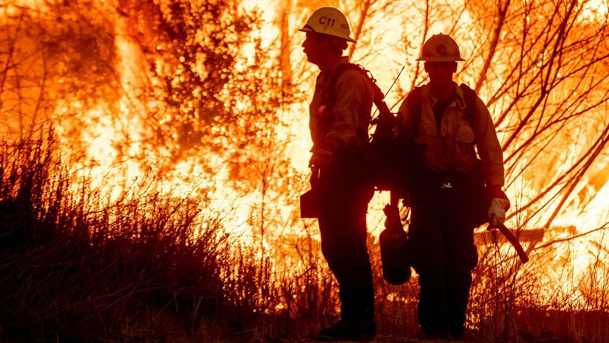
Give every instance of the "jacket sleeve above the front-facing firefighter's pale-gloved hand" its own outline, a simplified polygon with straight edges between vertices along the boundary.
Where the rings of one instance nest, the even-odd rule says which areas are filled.
[[[482,174],[487,186],[504,186],[503,151],[487,106],[478,97],[476,97],[474,143],[482,160]]]

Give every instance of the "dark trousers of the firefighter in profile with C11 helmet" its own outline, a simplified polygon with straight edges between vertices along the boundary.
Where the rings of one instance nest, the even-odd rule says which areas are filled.
[[[339,283],[340,317],[374,319],[374,288],[366,246],[366,214],[374,187],[356,170],[322,170],[319,229],[322,253]]]

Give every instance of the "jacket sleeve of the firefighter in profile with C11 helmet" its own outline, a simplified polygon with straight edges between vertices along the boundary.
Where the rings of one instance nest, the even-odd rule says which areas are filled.
[[[348,70],[338,79],[335,94],[334,120],[325,140],[337,142],[340,151],[344,150],[351,141],[357,140],[359,110],[366,99],[371,99],[373,93],[359,71]]]

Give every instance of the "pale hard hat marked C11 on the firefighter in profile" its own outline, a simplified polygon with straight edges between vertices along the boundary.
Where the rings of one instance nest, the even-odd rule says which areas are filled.
[[[348,42],[355,42],[349,37],[349,23],[347,18],[340,10],[334,7],[322,7],[316,10],[306,21],[305,26],[298,31],[302,32],[317,32],[318,34],[331,35],[333,37],[342,38]]]

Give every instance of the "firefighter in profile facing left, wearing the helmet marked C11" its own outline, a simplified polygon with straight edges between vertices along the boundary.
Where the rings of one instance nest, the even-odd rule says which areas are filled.
[[[340,320],[323,328],[320,341],[371,341],[375,335],[372,272],[366,240],[368,202],[372,182],[361,164],[361,147],[368,143],[373,88],[362,73],[340,74],[328,89],[333,71],[348,63],[343,50],[350,37],[347,18],[340,10],[316,10],[299,31],[308,62],[319,67],[309,105],[313,146],[309,167],[311,187],[319,189],[319,229],[322,253],[339,283]],[[328,92],[333,98],[328,103]]]

